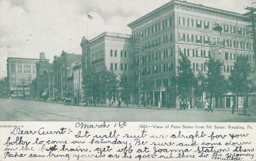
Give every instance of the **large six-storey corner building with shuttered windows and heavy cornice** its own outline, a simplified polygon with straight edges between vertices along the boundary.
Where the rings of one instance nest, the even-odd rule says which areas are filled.
[[[247,56],[252,67],[250,79],[255,80],[253,41],[244,18],[234,12],[172,0],[128,24],[133,40],[139,39],[143,45],[142,52],[136,53],[134,49],[133,61],[138,66],[134,70],[137,81],[140,74],[140,100],[155,105],[159,100],[163,106],[171,102],[172,107],[179,107],[180,97],[174,80],[180,53],[191,61],[195,74],[207,71],[204,63],[209,56],[224,61],[226,78],[233,70],[237,55]],[[201,98],[189,98],[192,106],[196,101],[206,101],[202,95]],[[251,99],[253,101],[253,97]],[[216,108],[230,108],[233,96],[226,93],[214,103]]]

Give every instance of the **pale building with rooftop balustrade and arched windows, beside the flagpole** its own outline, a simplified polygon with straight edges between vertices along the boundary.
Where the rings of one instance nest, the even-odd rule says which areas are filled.
[[[108,69],[120,74],[131,74],[132,36],[113,32],[104,32],[87,40],[83,37],[82,48],[83,85],[86,83],[86,71],[94,68],[96,72]],[[84,91],[86,93],[86,91]],[[114,94],[113,100],[119,98]],[[105,99],[104,99],[105,100]]]

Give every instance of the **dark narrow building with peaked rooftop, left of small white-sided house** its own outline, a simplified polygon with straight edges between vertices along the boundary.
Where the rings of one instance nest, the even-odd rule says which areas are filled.
[[[68,96],[68,94],[73,93],[73,73],[70,72],[70,67],[73,67],[74,63],[81,62],[81,59],[81,54],[71,54],[64,51],[62,51],[60,57],[54,56],[54,95],[56,97]],[[70,73],[72,74],[70,75]],[[72,87],[69,87],[69,84]]]

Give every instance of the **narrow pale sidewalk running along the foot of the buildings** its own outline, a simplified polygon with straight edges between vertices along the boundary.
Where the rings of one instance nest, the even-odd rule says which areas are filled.
[[[30,101],[41,101],[41,100],[31,100],[31,99],[22,99],[22,100],[30,100]],[[64,102],[61,101],[41,101],[41,102],[50,102],[50,103],[59,103],[59,104],[64,104]],[[84,103],[80,102],[79,105],[74,105],[74,104],[69,104],[68,106],[82,106],[84,107]],[[111,104],[111,107],[109,106],[109,104],[101,104],[101,103],[96,103],[94,106],[94,103],[92,103],[91,105],[88,105],[87,107],[106,107],[106,108],[139,108],[139,109],[159,109],[158,106],[150,106],[150,107],[144,107],[144,105],[140,105],[140,107],[138,107],[136,104],[129,104],[129,107],[125,107],[125,103],[121,104],[121,107],[118,107],[116,105],[116,103],[114,103],[113,105]],[[166,109],[166,110],[180,110],[180,108],[167,108],[167,107],[161,107],[160,109]],[[186,109],[188,110],[188,109]],[[204,110],[204,108],[190,108],[190,110]],[[214,108],[213,111],[231,111],[231,108]],[[235,111],[241,111],[241,113],[243,113],[243,108],[240,109],[235,109]],[[256,108],[247,108],[247,112],[252,112],[252,113],[256,113]]]

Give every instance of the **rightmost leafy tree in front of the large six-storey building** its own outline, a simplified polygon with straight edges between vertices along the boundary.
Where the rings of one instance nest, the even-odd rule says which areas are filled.
[[[251,81],[248,80],[249,73],[250,64],[248,59],[243,56],[237,56],[236,62],[234,62],[234,70],[231,70],[231,75],[228,77],[229,89],[236,96],[236,105],[238,102],[237,97],[244,97],[250,92]]]

